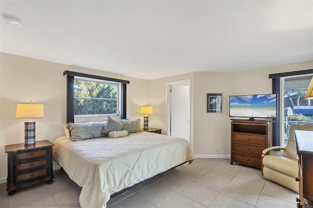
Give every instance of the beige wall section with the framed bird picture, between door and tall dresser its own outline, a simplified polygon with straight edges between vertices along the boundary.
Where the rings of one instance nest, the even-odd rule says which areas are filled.
[[[233,94],[235,73],[195,73],[194,84],[194,153],[229,155],[228,96]],[[206,112],[206,94],[222,93],[222,113]],[[216,152],[216,150],[218,152]]]

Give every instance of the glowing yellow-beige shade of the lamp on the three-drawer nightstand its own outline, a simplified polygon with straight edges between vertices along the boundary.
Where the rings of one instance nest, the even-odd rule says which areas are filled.
[[[42,118],[44,117],[44,104],[17,104],[16,118]]]

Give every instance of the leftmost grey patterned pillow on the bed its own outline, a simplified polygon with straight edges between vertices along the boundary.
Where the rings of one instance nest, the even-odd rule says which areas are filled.
[[[74,123],[67,125],[71,141],[101,137],[103,127],[104,122]]]

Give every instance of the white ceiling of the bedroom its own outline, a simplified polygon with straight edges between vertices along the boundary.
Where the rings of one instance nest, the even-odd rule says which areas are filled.
[[[0,51],[152,80],[313,60],[312,0],[0,0]]]

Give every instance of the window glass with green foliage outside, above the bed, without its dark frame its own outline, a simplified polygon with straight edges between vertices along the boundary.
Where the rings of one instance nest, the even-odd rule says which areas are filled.
[[[74,77],[74,115],[119,114],[120,83]]]

